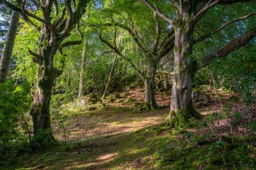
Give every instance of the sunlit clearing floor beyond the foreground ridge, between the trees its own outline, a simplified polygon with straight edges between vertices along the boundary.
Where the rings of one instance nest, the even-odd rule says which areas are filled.
[[[121,96],[124,94],[121,94]],[[136,101],[143,99],[143,92],[133,90],[129,96],[134,97]],[[157,94],[156,99],[159,106],[163,107],[156,111],[136,111],[127,110],[133,108],[132,103],[111,103],[109,110],[101,111],[82,111],[74,112],[72,116],[67,115],[65,130],[67,132],[67,141],[80,141],[81,139],[96,138],[122,132],[130,132],[148,125],[155,125],[164,122],[169,112],[170,100],[162,94]],[[121,106],[120,106],[121,105]],[[57,125],[52,125],[54,136],[64,141],[63,129]]]

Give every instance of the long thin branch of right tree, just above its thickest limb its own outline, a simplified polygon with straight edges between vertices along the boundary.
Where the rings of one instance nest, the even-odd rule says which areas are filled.
[[[236,18],[234,20],[230,20],[229,22],[226,22],[225,24],[223,24],[221,27],[219,27],[218,29],[212,31],[212,32],[209,32],[208,34],[205,34],[204,36],[201,36],[200,38],[196,39],[194,44],[196,43],[199,43],[200,41],[204,41],[205,39],[209,38],[210,36],[212,36],[212,34],[215,34],[216,32],[219,32],[221,31],[221,29],[225,29],[225,27],[227,27],[228,25],[230,24],[233,24],[234,22],[237,22],[239,20],[245,20],[246,18],[249,18],[249,17],[252,17],[253,15],[256,15],[256,11],[248,14],[248,15],[245,15],[243,17],[240,17],[240,18]]]

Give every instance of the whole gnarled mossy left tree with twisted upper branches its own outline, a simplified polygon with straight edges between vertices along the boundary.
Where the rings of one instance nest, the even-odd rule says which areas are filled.
[[[60,70],[54,68],[54,55],[58,50],[62,53],[62,48],[66,46],[81,43],[81,41],[63,41],[70,36],[70,32],[79,23],[89,1],[23,1],[20,6],[11,2],[1,0],[1,3],[8,8],[19,12],[30,27],[40,32],[38,53],[28,49],[28,52],[33,55],[34,62],[38,64],[38,80],[31,109],[36,135],[40,130],[51,130],[49,113],[51,92],[54,80],[61,74]],[[54,140],[51,131],[46,137]]]

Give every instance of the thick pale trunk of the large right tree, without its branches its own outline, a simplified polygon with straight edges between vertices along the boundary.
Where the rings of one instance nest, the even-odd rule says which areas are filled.
[[[191,59],[191,37],[193,29],[175,28],[175,67],[172,85],[171,111],[168,119],[173,127],[183,127],[189,118],[199,118],[191,100],[192,82],[196,62]]]

